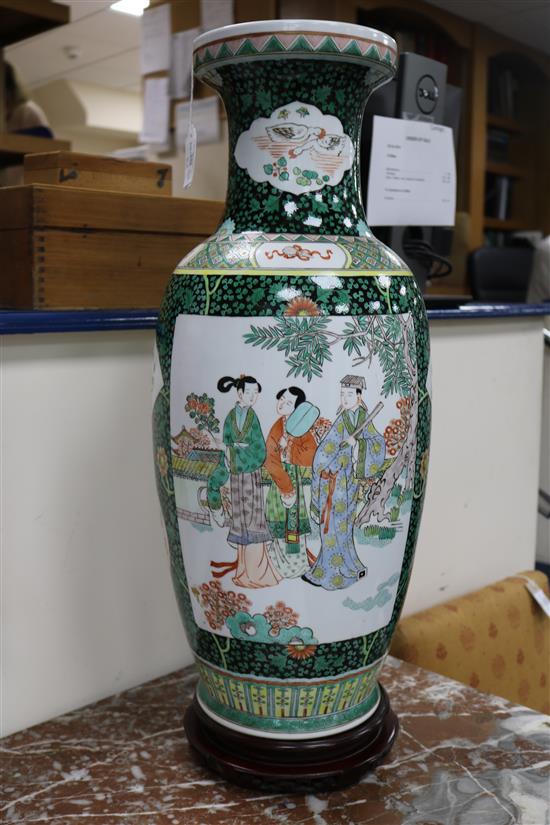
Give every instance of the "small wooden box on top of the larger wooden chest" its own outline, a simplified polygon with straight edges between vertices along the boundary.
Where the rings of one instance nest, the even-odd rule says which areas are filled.
[[[119,160],[80,152],[43,152],[25,156],[24,182],[170,197],[172,167],[169,163]]]

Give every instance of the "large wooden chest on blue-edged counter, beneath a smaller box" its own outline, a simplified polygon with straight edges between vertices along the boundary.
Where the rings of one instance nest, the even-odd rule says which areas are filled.
[[[30,185],[0,189],[0,307],[146,309],[223,212],[217,201]]]

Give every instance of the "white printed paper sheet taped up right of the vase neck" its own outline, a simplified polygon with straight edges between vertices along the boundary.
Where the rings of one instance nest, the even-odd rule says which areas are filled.
[[[452,129],[374,117],[367,191],[369,226],[453,226]]]

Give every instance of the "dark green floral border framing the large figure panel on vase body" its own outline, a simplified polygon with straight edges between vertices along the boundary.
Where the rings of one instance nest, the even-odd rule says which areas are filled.
[[[217,277],[212,278],[212,285]],[[204,286],[205,277],[174,276],[167,288],[159,315],[157,343],[164,388],[155,403],[154,432],[155,453],[157,447],[170,448],[168,432],[169,411],[168,393],[170,387],[171,341],[178,314],[187,312],[203,314],[207,294]],[[344,280],[344,279],[342,279]],[[316,646],[315,655],[305,659],[295,659],[288,651],[288,646],[257,644],[241,639],[224,640],[223,655],[220,652],[218,637],[195,624],[185,572],[183,570],[177,516],[173,500],[167,494],[162,481],[157,476],[159,495],[167,525],[172,558],[172,575],[178,597],[178,604],[189,633],[189,639],[195,652],[205,661],[233,670],[236,673],[255,674],[279,678],[316,678],[333,676],[345,670],[355,670],[375,661],[388,649],[395,625],[403,607],[414,547],[418,534],[423,504],[424,478],[421,474],[421,462],[429,446],[431,401],[427,393],[426,381],[429,364],[428,325],[422,297],[412,278],[391,277],[389,284],[383,287],[386,297],[381,300],[376,278],[349,277],[345,279],[348,309],[346,315],[365,315],[369,313],[384,314],[388,312],[410,312],[414,319],[417,352],[417,376],[419,382],[419,416],[417,430],[417,455],[415,495],[411,504],[409,533],[405,547],[401,576],[397,586],[397,596],[389,624],[368,636],[349,639],[331,644]],[[341,301],[341,290],[327,290],[311,281],[306,276],[271,276],[246,277],[228,273],[222,279],[216,293],[212,296],[209,315],[242,317],[246,315],[280,316],[287,308],[287,303],[279,294],[285,289],[300,289],[323,312],[335,314],[335,302]],[[340,293],[339,297],[337,294]],[[166,422],[163,424],[163,422]],[[158,470],[157,470],[158,473]],[[171,484],[171,468],[168,476]],[[230,644],[228,644],[230,642]]]

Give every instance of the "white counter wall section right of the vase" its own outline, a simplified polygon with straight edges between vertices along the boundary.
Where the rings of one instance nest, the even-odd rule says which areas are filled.
[[[430,324],[430,469],[404,615],[534,568],[542,326]]]

